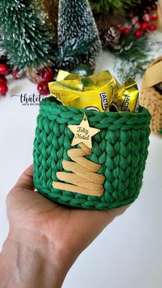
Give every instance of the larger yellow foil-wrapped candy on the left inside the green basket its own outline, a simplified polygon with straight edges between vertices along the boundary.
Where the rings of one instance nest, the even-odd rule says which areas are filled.
[[[109,71],[89,77],[60,70],[56,82],[49,82],[49,91],[65,106],[109,111],[119,83]]]

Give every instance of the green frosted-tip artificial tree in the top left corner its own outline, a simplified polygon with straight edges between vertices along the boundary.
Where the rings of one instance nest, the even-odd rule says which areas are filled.
[[[1,46],[14,69],[27,74],[51,63],[51,34],[35,0],[0,1]]]

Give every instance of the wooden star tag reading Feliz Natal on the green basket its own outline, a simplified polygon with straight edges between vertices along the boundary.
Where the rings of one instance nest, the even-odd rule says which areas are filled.
[[[87,147],[92,148],[91,137],[100,132],[100,129],[95,129],[89,126],[89,121],[85,113],[84,118],[79,125],[68,125],[68,128],[74,134],[71,146],[84,143]]]

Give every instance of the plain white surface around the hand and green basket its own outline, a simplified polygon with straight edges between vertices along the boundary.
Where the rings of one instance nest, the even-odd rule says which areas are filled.
[[[96,71],[110,69],[104,53]],[[9,78],[8,96],[0,98],[0,247],[8,234],[5,197],[23,170],[32,164],[38,106],[23,106],[12,94],[38,94],[27,79]],[[139,79],[140,84],[140,79]],[[162,287],[162,139],[150,136],[141,193],[121,217],[109,225],[80,255],[63,288]]]

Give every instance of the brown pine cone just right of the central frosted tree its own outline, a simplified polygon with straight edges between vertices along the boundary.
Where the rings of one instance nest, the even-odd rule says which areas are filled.
[[[107,25],[107,27],[100,32],[100,39],[102,41],[102,47],[107,49],[109,46],[119,43],[121,32],[117,27],[113,25]]]

